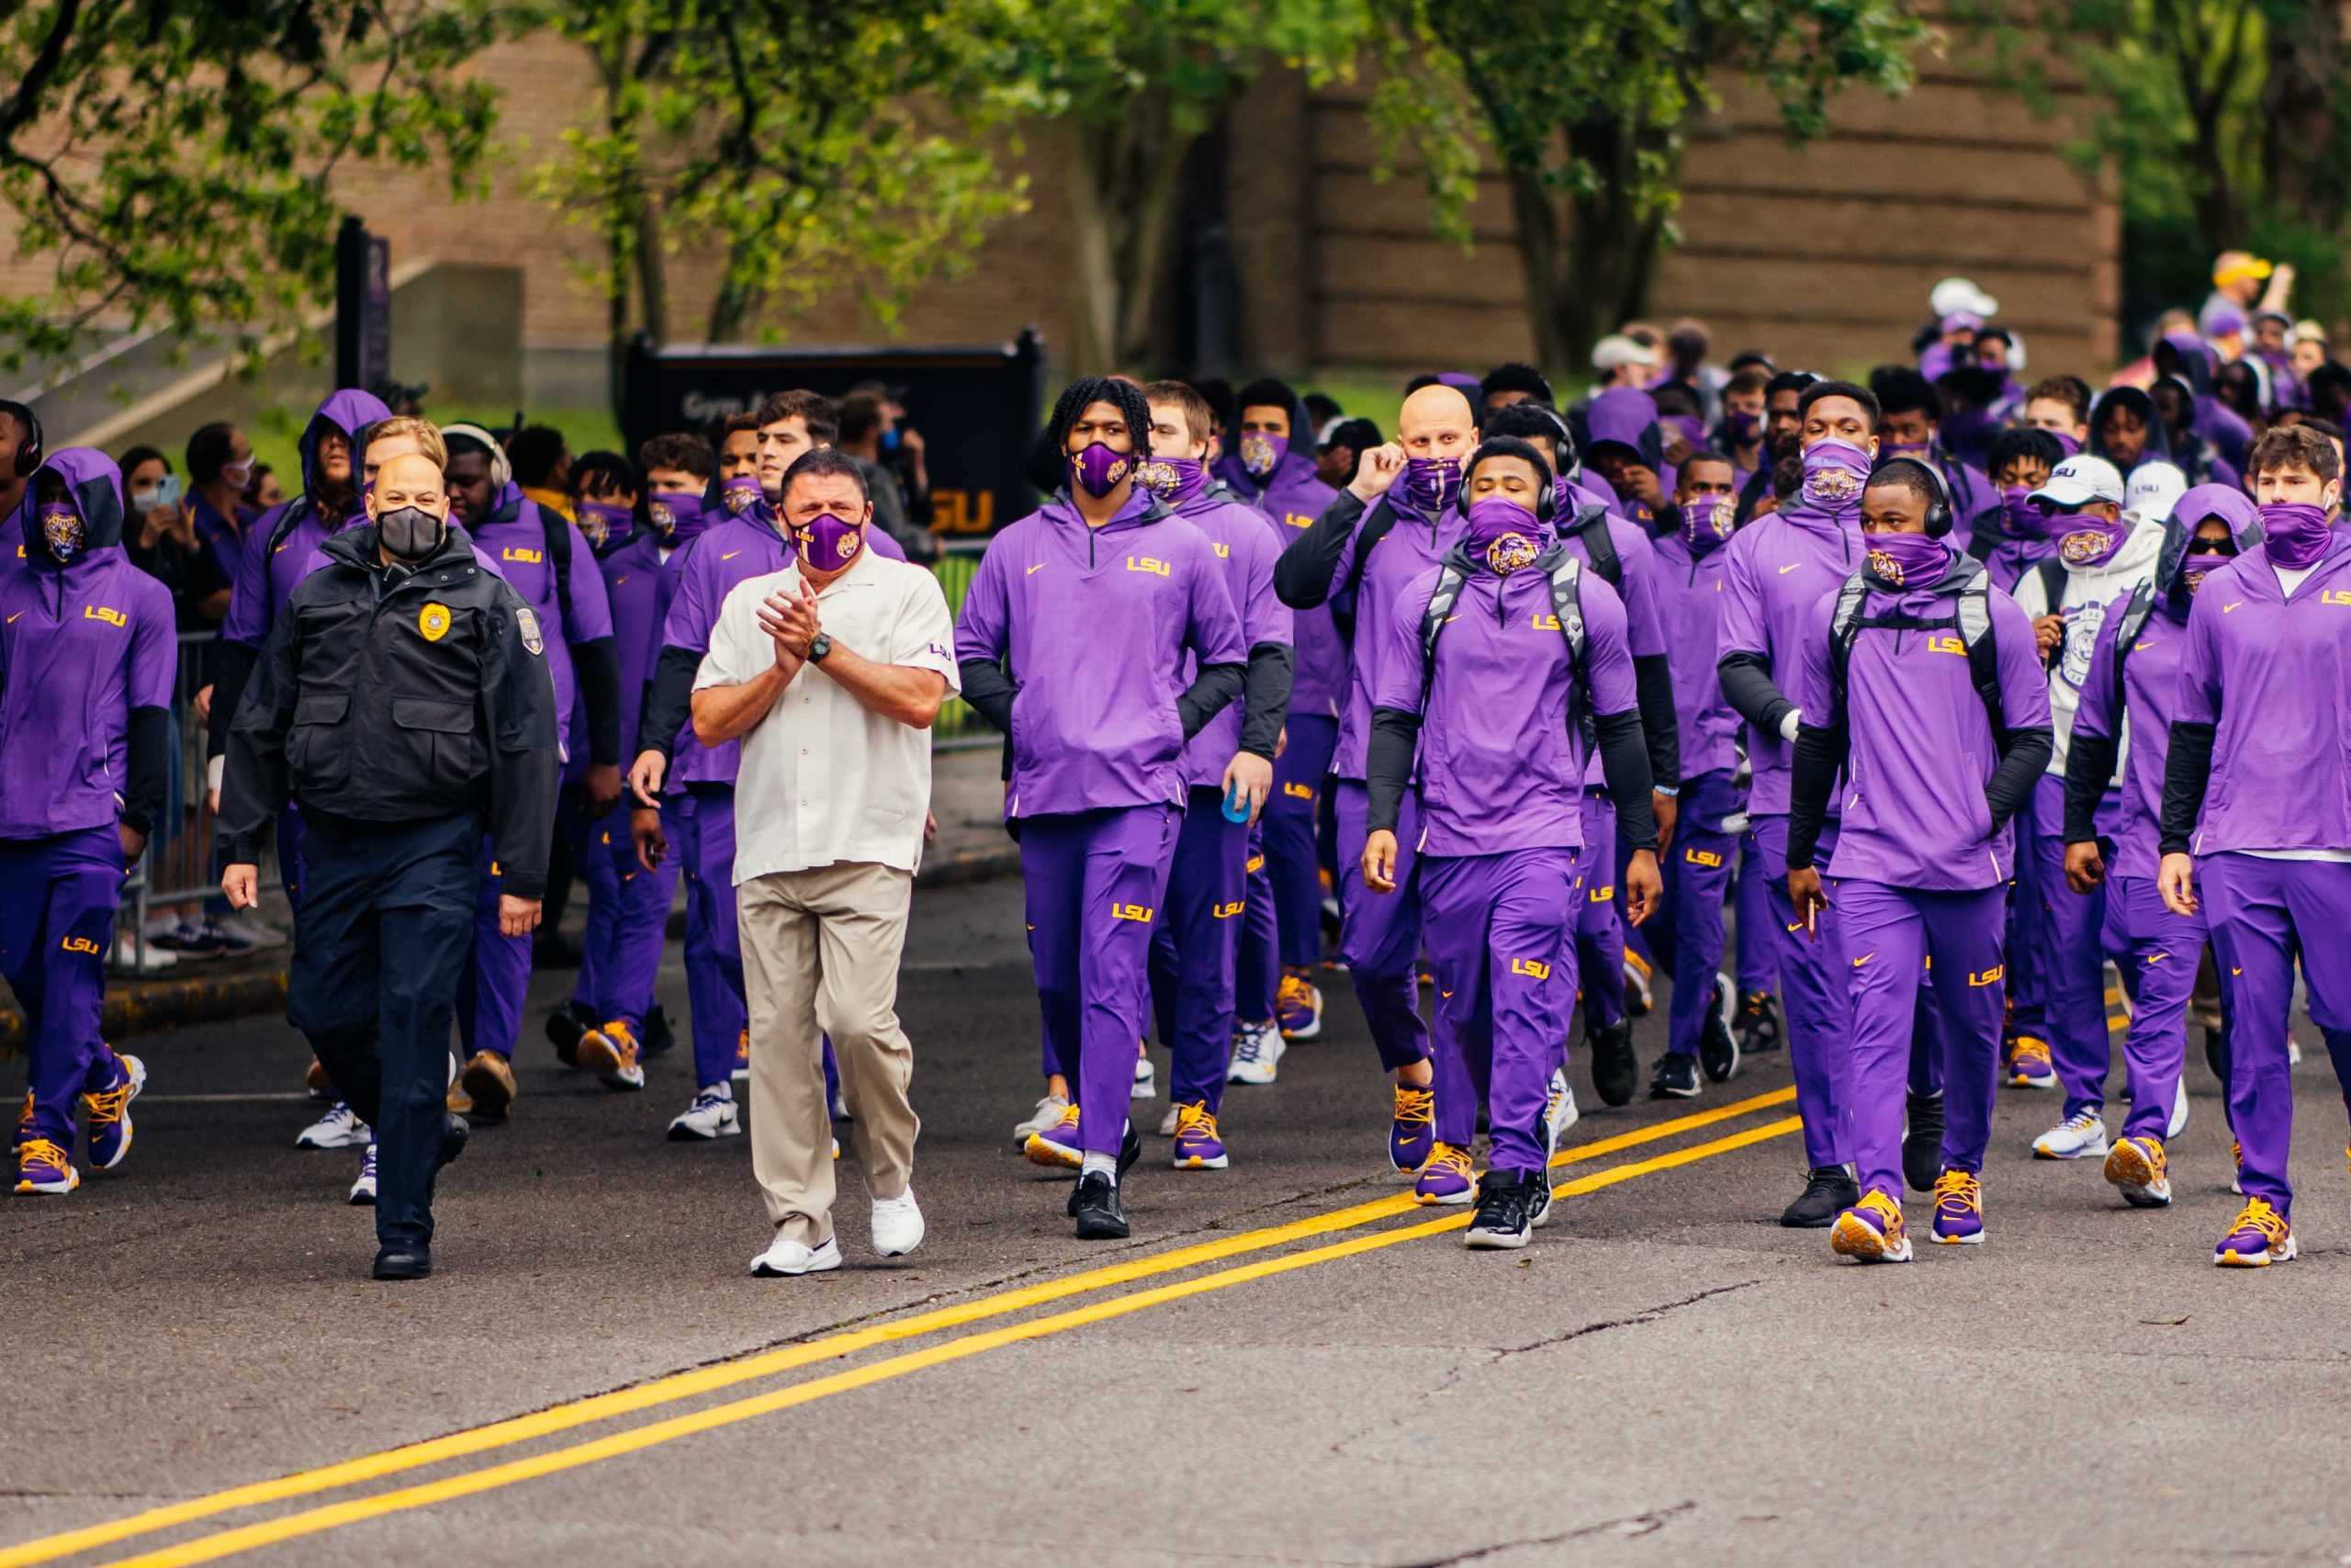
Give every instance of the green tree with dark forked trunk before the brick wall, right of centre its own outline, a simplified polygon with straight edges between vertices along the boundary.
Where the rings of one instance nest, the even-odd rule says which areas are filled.
[[[1787,134],[1827,129],[1848,85],[1900,94],[1923,28],[1900,0],[1375,0],[1373,125],[1427,169],[1439,233],[1467,242],[1481,146],[1500,160],[1542,364],[1582,364],[1648,308],[1674,240],[1683,127],[1737,68]]]

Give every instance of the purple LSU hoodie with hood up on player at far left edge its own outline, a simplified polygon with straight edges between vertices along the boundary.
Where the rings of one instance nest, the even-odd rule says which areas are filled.
[[[172,592],[122,555],[122,473],[87,447],[40,473],[66,480],[82,552],[59,567],[33,522],[24,569],[0,574],[0,839],[120,820],[132,710],[167,710],[179,675]]]

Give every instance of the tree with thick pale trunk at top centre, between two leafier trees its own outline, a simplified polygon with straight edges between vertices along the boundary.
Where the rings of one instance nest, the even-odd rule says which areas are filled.
[[[1354,68],[1371,0],[1009,0],[1013,71],[1074,125],[1070,193],[1081,367],[1159,360],[1185,160],[1267,66]]]

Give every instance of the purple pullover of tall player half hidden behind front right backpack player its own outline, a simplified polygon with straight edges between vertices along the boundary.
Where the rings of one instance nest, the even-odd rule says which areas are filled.
[[[1730,654],[1761,654],[1773,684],[1803,708],[1794,686],[1803,668],[1803,646],[1815,635],[1813,611],[1822,595],[1834,595],[1862,567],[1862,508],[1855,503],[1831,515],[1799,491],[1777,512],[1733,534],[1719,555],[1728,559],[1716,663]],[[2029,635],[2027,646],[2031,646]],[[1796,748],[1777,731],[1763,733],[1749,724],[1747,759],[1754,764],[1747,809],[1756,816],[1784,816]],[[1836,802],[1829,802],[1829,816],[1836,816]]]

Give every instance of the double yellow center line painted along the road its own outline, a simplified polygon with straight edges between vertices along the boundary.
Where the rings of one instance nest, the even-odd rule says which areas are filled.
[[[1730,1121],[1735,1117],[1744,1117],[1756,1110],[1787,1105],[1794,1098],[1796,1098],[1794,1088],[1780,1088],[1773,1093],[1721,1105],[1716,1110],[1697,1112],[1690,1117],[1676,1117],[1672,1121],[1660,1121],[1655,1126],[1575,1145],[1573,1150],[1561,1150],[1552,1159],[1552,1164],[1566,1166],[1566,1164],[1599,1159],[1603,1154],[1615,1154],[1620,1150],[1641,1147],[1702,1126]],[[1744,1150],[1756,1143],[1766,1143],[1770,1138],[1784,1138],[1794,1133],[1799,1126],[1801,1124],[1796,1117],[1782,1117],[1777,1121],[1744,1128],[1728,1138],[1716,1138],[1712,1143],[1700,1143],[1686,1150],[1674,1150],[1669,1154],[1657,1154],[1653,1159],[1610,1166],[1606,1171],[1596,1171],[1592,1175],[1570,1182],[1559,1182],[1554,1185],[1552,1192],[1554,1199],[1566,1199],[1582,1192],[1599,1192],[1601,1187],[1613,1187],[1617,1182],[1627,1182],[1639,1175],[1650,1175],[1655,1171],[1669,1171],[1674,1166],[1697,1164],[1702,1159],[1730,1154],[1735,1150]],[[813,1366],[818,1361],[839,1361],[844,1356],[853,1356],[858,1352],[879,1345],[893,1345],[900,1340],[912,1340],[947,1328],[964,1328],[978,1321],[1027,1312],[1030,1307],[1041,1307],[1056,1300],[1067,1300],[1072,1295],[1107,1291],[1114,1286],[1126,1286],[1159,1274],[1176,1274],[1183,1269],[1194,1269],[1206,1262],[1220,1262],[1244,1253],[1288,1246],[1291,1241],[1302,1241],[1310,1237],[1357,1229],[1361,1225],[1371,1225],[1375,1220],[1387,1220],[1404,1213],[1415,1213],[1415,1204],[1408,1194],[1394,1194],[1368,1204],[1335,1208],[1331,1213],[1314,1215],[1307,1220],[1293,1220],[1291,1225],[1272,1225],[1265,1229],[1239,1232],[1232,1237],[1223,1237],[1218,1241],[1206,1241],[1199,1246],[1180,1246],[1166,1253],[1154,1253],[1147,1258],[1136,1258],[1100,1269],[1086,1269],[1079,1274],[1070,1274],[1065,1279],[1020,1286],[1013,1291],[999,1291],[994,1295],[983,1295],[978,1300],[962,1302],[955,1307],[943,1307],[936,1312],[922,1312],[891,1324],[875,1324],[870,1328],[853,1328],[846,1333],[825,1335],[820,1340],[809,1340],[806,1345],[785,1345],[778,1349],[757,1352],[736,1361],[724,1361],[689,1373],[675,1373],[670,1378],[656,1378],[651,1382],[614,1389],[609,1394],[595,1394],[590,1399],[552,1406],[548,1410],[536,1410],[531,1415],[517,1415],[513,1420],[491,1422],[487,1427],[451,1432],[449,1436],[437,1436],[423,1443],[386,1448],[381,1453],[360,1455],[355,1460],[343,1460],[339,1465],[303,1469],[275,1476],[270,1481],[254,1481],[249,1486],[235,1486],[228,1490],[209,1493],[205,1497],[190,1497],[186,1502],[172,1502],[158,1509],[127,1514],[122,1519],[110,1519],[80,1530],[45,1535],[21,1547],[0,1549],[0,1568],[19,1568],[21,1563],[47,1563],[78,1552],[92,1552],[96,1547],[108,1547],[136,1535],[148,1535],[153,1530],[167,1530],[174,1526],[214,1519],[219,1514],[256,1507],[263,1502],[308,1497],[315,1493],[336,1490],[362,1481],[379,1481],[383,1476],[402,1474],[409,1469],[421,1469],[426,1465],[440,1465],[447,1460],[489,1453],[496,1448],[510,1448],[515,1443],[552,1436],[557,1432],[569,1432],[574,1427],[583,1427],[590,1422],[611,1420],[616,1415],[630,1415],[637,1410],[677,1403],[682,1399],[694,1399],[698,1394],[710,1394],[715,1389],[752,1382],[759,1378],[771,1378],[776,1373]],[[940,1366],[947,1361],[962,1361],[966,1356],[978,1356],[990,1349],[1002,1349],[1004,1345],[1018,1345],[1023,1340],[1039,1340],[1053,1333],[1084,1328],[1089,1324],[1103,1324],[1117,1316],[1126,1316],[1131,1312],[1143,1312],[1147,1307],[1159,1307],[1192,1295],[1206,1295],[1211,1291],[1227,1291],[1232,1286],[1251,1284],[1255,1279],[1270,1279],[1274,1274],[1288,1274],[1293,1269],[1314,1267],[1319,1262],[1354,1258],[1359,1253],[1396,1246],[1404,1241],[1415,1241],[1420,1237],[1434,1237],[1448,1229],[1465,1229],[1469,1225],[1469,1218],[1472,1215],[1467,1211],[1453,1211],[1441,1218],[1425,1220],[1420,1225],[1404,1225],[1396,1229],[1382,1229],[1366,1237],[1352,1237],[1347,1241],[1338,1241],[1331,1246],[1307,1248],[1300,1253],[1286,1253],[1281,1258],[1267,1258],[1260,1262],[1218,1269],[1194,1279],[1091,1302],[1086,1307],[1077,1307],[1070,1312],[1056,1312],[1049,1316],[1030,1319],[1025,1324],[1011,1324],[983,1333],[966,1333],[945,1340],[940,1345],[905,1352],[898,1356],[886,1356],[868,1366],[830,1373],[825,1378],[813,1378],[809,1382],[771,1389],[766,1394],[752,1394],[748,1399],[734,1399],[726,1403],[708,1406],[703,1410],[670,1415],[665,1420],[628,1427],[623,1432],[614,1432],[585,1443],[552,1448],[522,1460],[508,1460],[503,1465],[491,1465],[484,1469],[447,1476],[442,1481],[404,1486],[369,1497],[353,1497],[348,1502],[334,1502],[299,1514],[284,1514],[280,1519],[268,1519],[261,1523],[221,1530],[216,1535],[202,1535],[179,1547],[162,1547],[158,1552],[118,1559],[115,1568],[127,1568],[129,1563],[136,1563],[141,1568],[148,1566],[160,1568],[165,1563],[209,1563],[223,1556],[233,1556],[237,1552],[249,1552],[254,1547],[266,1547],[284,1540],[299,1540],[303,1535],[317,1535],[322,1530],[360,1523],[364,1519],[381,1519],[386,1514],[430,1507],[435,1502],[447,1502],[451,1497],[468,1497],[473,1493],[484,1493],[501,1486],[513,1486],[517,1481],[531,1481],[564,1469],[576,1469],[581,1465],[595,1465],[597,1460],[618,1458],[623,1453],[654,1448],[658,1443],[691,1436],[696,1432],[710,1432],[743,1420],[755,1420],[759,1415],[771,1415],[776,1410],[790,1410],[795,1406],[811,1403],[816,1399],[870,1387],[875,1382],[889,1382],[893,1378],[905,1378],[907,1373],[919,1373],[924,1368]]]

